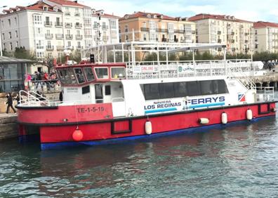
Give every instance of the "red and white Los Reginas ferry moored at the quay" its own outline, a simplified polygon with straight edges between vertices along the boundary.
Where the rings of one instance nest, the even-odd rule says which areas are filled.
[[[84,51],[93,53],[97,61],[92,56],[91,61],[55,67],[62,101],[20,91],[19,135],[39,134],[44,150],[275,116],[273,88],[260,87],[258,92],[252,82],[251,74],[263,67],[261,62],[196,61],[194,53],[192,61],[168,60],[171,53],[199,48],[225,50],[213,44],[131,41]],[[156,53],[157,60],[140,61],[147,51]],[[159,60],[161,53],[166,60]]]

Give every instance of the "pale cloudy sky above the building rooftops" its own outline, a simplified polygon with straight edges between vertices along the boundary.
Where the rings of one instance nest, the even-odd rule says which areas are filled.
[[[27,6],[34,2],[36,0],[11,0],[4,3],[2,0],[0,6]],[[190,17],[198,13],[210,13],[234,15],[242,20],[278,22],[277,0],[80,0],[79,3],[119,16],[134,11],[163,13],[173,17]]]

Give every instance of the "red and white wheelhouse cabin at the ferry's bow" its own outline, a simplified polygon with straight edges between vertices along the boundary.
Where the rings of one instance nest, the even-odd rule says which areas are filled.
[[[64,101],[112,103],[112,98],[124,98],[121,84],[121,79],[126,79],[124,63],[65,65],[55,70],[63,87]]]

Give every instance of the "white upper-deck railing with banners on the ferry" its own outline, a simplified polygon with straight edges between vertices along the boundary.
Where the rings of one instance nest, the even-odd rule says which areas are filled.
[[[250,74],[249,60],[144,61],[127,63],[127,79],[159,79],[178,77],[235,76]]]

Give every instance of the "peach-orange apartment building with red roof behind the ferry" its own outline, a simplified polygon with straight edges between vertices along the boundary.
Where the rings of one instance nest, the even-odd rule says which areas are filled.
[[[137,12],[119,19],[120,41],[195,42],[195,24],[187,18]]]

